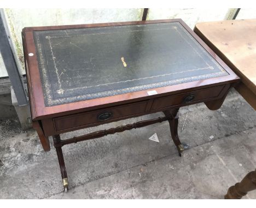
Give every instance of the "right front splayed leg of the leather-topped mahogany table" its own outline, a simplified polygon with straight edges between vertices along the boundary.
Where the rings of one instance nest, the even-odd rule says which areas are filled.
[[[181,152],[183,152],[184,147],[178,137],[178,119],[179,119],[179,117],[177,116],[178,111],[179,111],[179,108],[175,108],[175,109],[163,111],[163,113],[165,114],[165,116],[172,115],[171,119],[168,120],[170,125],[170,130],[171,130],[171,136],[174,144],[178,149],[179,156],[181,156]]]

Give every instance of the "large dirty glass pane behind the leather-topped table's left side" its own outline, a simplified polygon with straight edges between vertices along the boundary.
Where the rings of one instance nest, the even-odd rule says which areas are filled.
[[[24,27],[137,21],[142,9],[4,9],[22,74],[21,30]]]

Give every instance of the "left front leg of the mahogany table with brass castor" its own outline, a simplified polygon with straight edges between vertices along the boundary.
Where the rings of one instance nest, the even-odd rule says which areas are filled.
[[[59,165],[60,165],[63,187],[64,187],[65,192],[67,192],[68,179],[67,179],[67,172],[66,172],[65,162],[64,162],[64,158],[63,158],[63,154],[62,154],[62,149],[61,149],[60,135],[57,134],[57,135],[53,136],[53,140],[54,140],[54,147],[56,149],[57,157],[58,157],[58,161],[59,161]]]

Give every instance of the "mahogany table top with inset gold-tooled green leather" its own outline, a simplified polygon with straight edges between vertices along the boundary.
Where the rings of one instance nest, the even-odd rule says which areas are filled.
[[[181,19],[28,27],[22,40],[33,120],[239,79]]]

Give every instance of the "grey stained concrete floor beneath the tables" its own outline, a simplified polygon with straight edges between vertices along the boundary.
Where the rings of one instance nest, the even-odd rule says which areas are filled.
[[[229,186],[256,167],[256,113],[235,90],[218,111],[204,104],[190,106],[184,123],[187,109],[179,111],[179,137],[190,145],[182,157],[167,122],[64,146],[68,193],[63,193],[52,139],[51,151],[44,152],[34,130],[21,131],[18,120],[2,120],[0,198],[222,199]],[[159,116],[69,132],[62,138]],[[159,143],[148,139],[154,133]],[[256,191],[243,198],[256,199]]]

